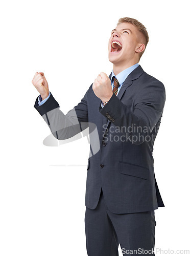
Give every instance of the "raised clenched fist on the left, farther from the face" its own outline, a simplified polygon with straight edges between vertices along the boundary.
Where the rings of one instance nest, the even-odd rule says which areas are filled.
[[[32,84],[40,93],[42,100],[49,95],[50,91],[48,88],[48,83],[43,72],[35,73],[34,78],[32,79]]]

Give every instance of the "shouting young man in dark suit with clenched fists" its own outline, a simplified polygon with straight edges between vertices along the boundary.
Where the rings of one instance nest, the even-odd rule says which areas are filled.
[[[153,145],[162,117],[163,84],[138,65],[149,36],[138,20],[118,20],[109,39],[113,70],[101,72],[64,115],[42,72],[32,83],[34,107],[57,139],[89,127],[85,232],[90,256],[154,255],[154,210],[164,206],[154,176]],[[92,134],[97,129],[98,137]],[[96,150],[100,145],[100,150]],[[94,150],[95,148],[95,150]]]

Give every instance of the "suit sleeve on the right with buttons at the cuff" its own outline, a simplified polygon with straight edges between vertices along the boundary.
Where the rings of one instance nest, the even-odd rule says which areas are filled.
[[[151,136],[156,125],[159,124],[165,103],[165,89],[158,80],[151,80],[137,92],[133,111],[120,99],[112,95],[104,108],[99,108],[104,115],[121,132],[129,138],[138,138],[134,144],[141,144],[146,136]],[[130,139],[131,141],[131,139]]]

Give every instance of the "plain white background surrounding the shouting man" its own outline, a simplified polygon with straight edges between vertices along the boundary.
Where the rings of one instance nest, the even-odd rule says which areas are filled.
[[[154,146],[165,204],[155,211],[155,248],[190,249],[187,3],[18,0],[1,5],[1,256],[87,255],[89,144],[85,137],[59,147],[43,145],[50,130],[34,108],[39,94],[32,79],[36,71],[44,72],[66,114],[99,72],[110,74],[108,39],[126,16],[147,27],[150,41],[139,63],[167,93]]]

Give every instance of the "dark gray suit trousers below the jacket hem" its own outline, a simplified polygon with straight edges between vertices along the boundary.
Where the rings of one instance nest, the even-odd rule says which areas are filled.
[[[85,232],[88,256],[117,256],[118,244],[123,255],[154,255],[154,210],[133,214],[113,214],[101,190],[95,209],[86,207]],[[130,254],[130,250],[131,254]]]

